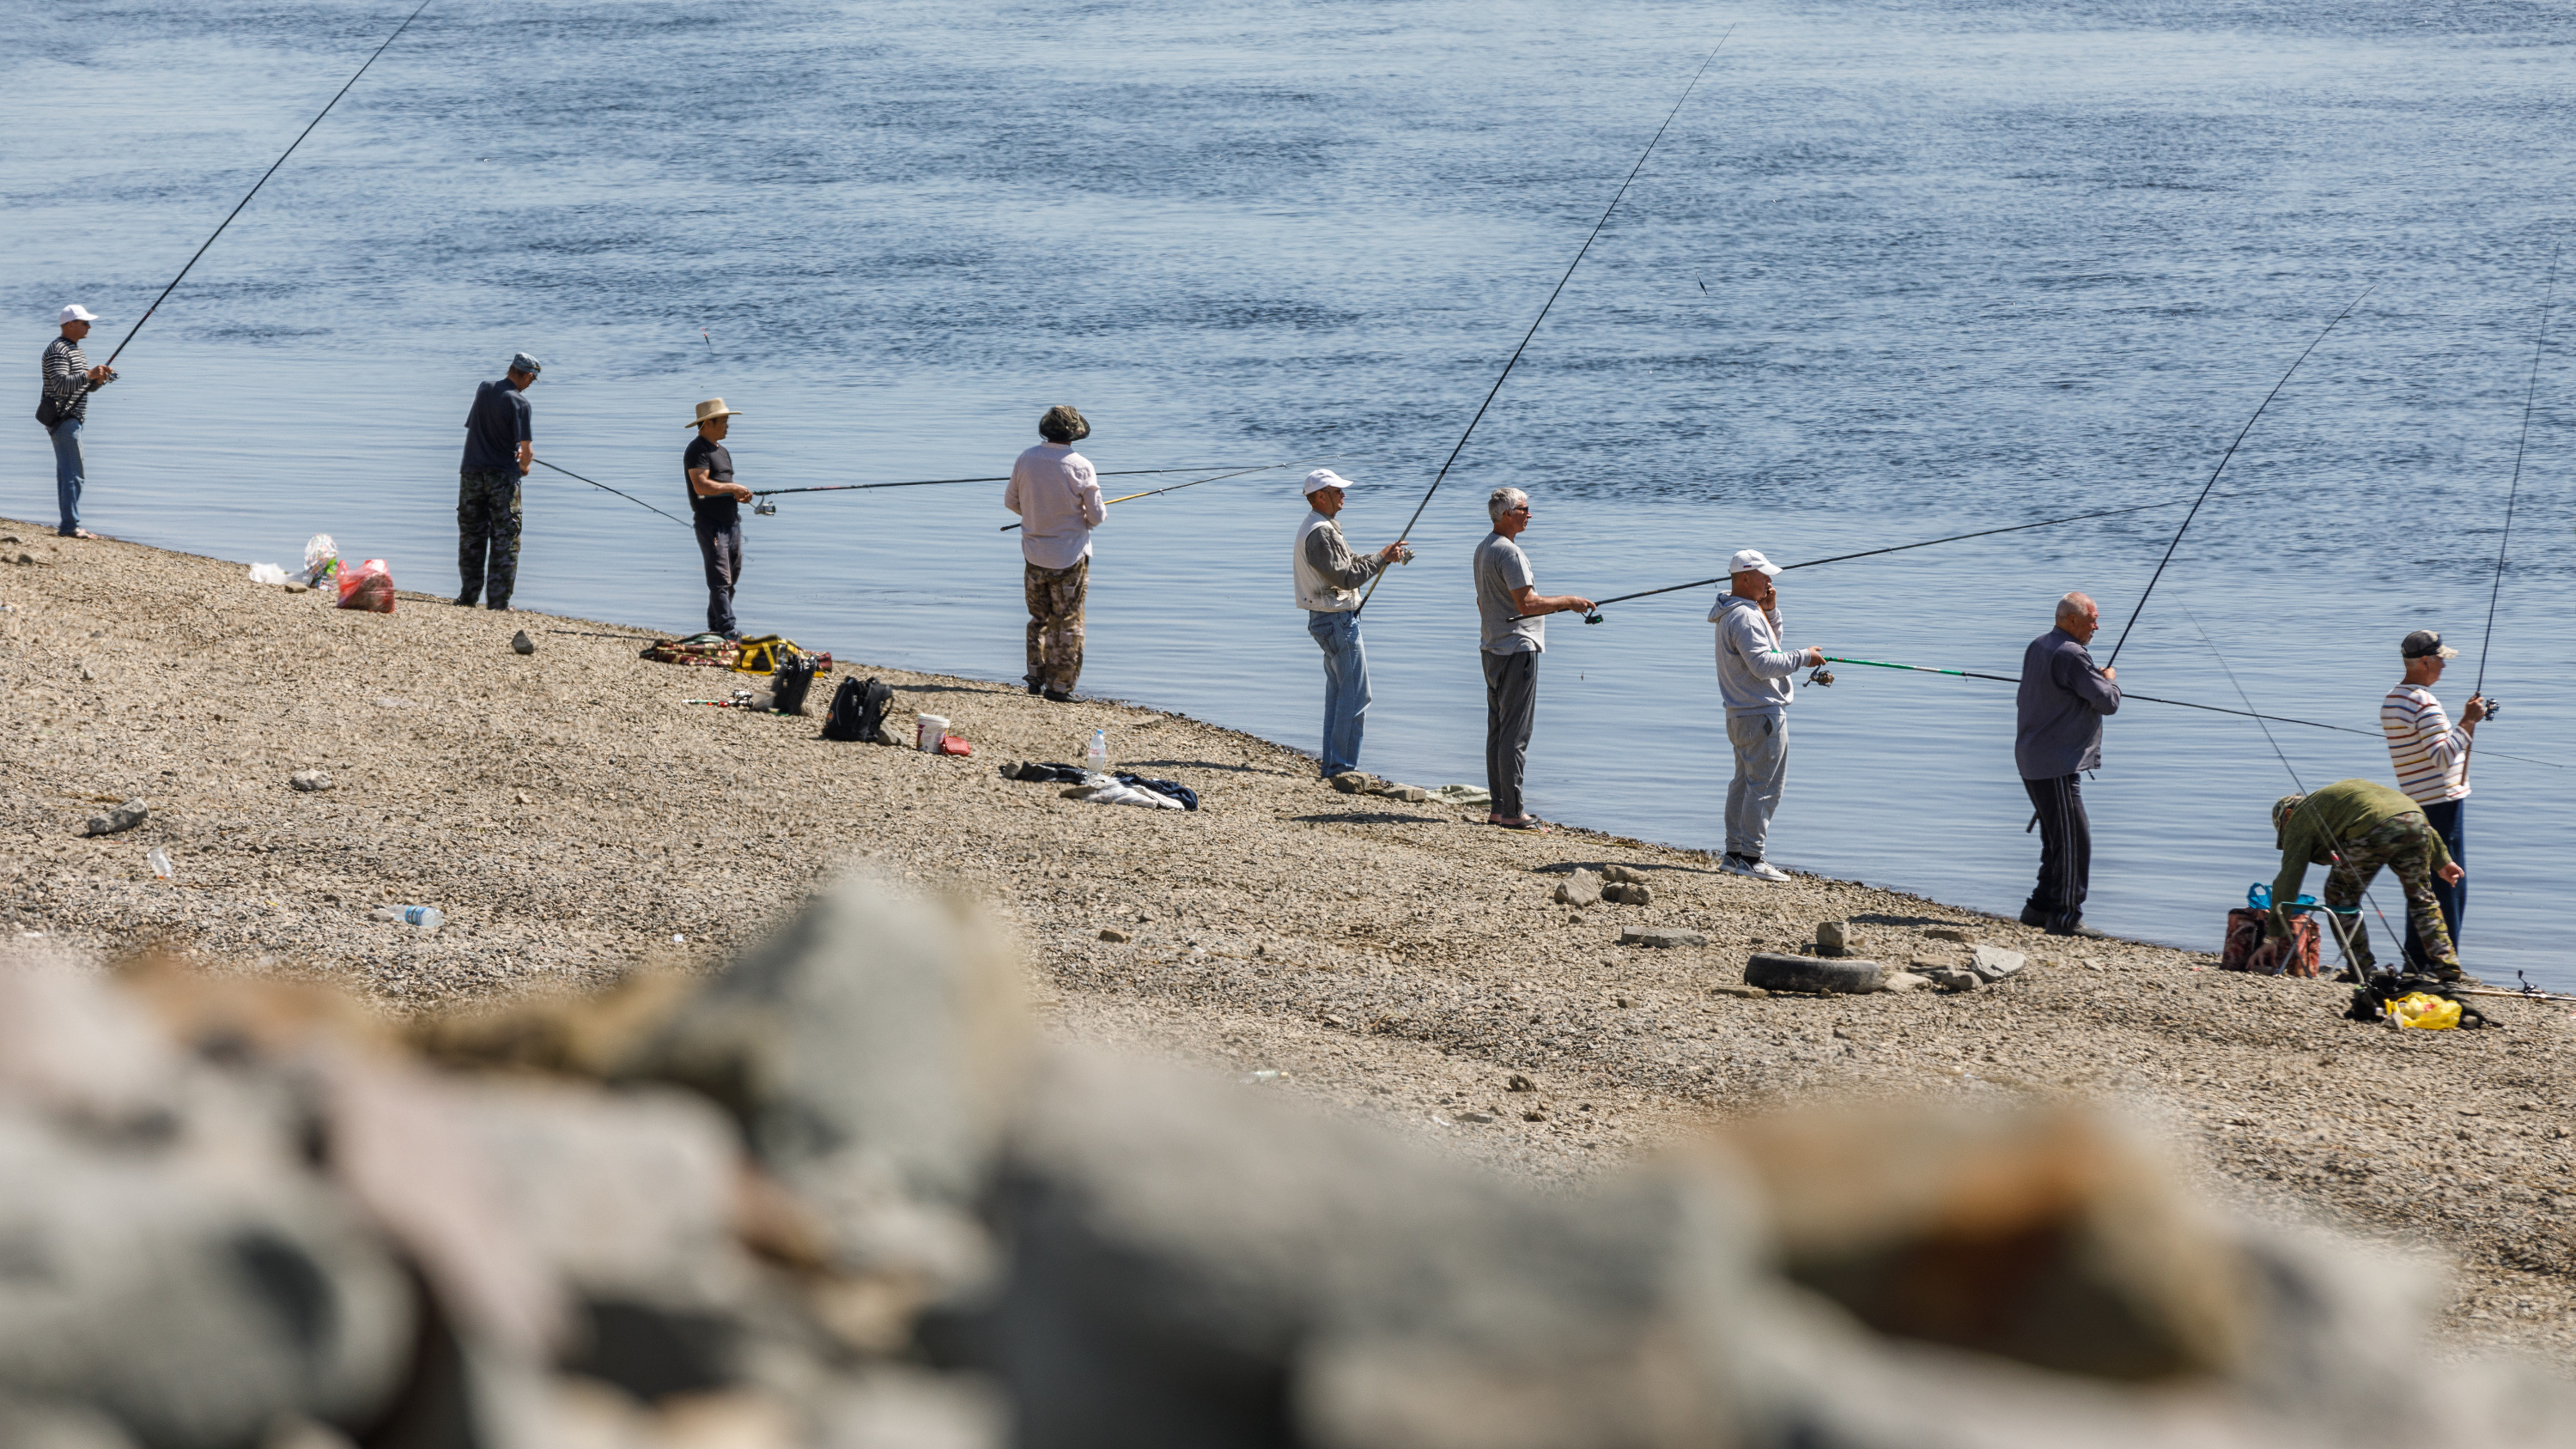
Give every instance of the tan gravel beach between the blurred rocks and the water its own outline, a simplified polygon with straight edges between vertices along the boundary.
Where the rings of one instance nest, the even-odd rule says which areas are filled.
[[[1857,883],[1765,885],[1582,829],[1497,831],[1337,793],[1311,757],[1182,715],[876,669],[866,641],[801,641],[840,659],[814,715],[755,715],[690,703],[752,679],[639,661],[649,636],[613,623],[428,595],[343,613],[242,564],[0,533],[18,952],[160,945],[420,1011],[703,968],[863,867],[1015,921],[1061,1035],[1216,1063],[1535,1179],[1816,1094],[2074,1094],[2161,1122],[2269,1212],[2447,1253],[2460,1346],[2561,1364],[2576,1346],[2563,1004],[2491,1001],[2491,1032],[2365,1027],[2342,1019],[2349,988]],[[938,713],[974,754],[817,739],[853,674],[896,687],[896,734]],[[1118,770],[1203,808],[997,775],[1079,762],[1095,726]],[[1682,788],[1716,800],[1723,780]],[[147,818],[85,834],[124,803]],[[1651,901],[1556,898],[1605,865]],[[376,919],[410,903],[446,924]],[[1739,993],[1747,955],[1806,950],[1819,921],[1891,968],[1976,945],[2027,965],[1960,993]]]

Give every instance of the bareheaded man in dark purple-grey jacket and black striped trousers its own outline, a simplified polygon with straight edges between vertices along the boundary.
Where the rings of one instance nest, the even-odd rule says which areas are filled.
[[[2022,790],[2040,813],[2040,883],[2022,906],[2025,927],[2053,937],[2097,937],[2084,924],[2084,891],[2092,880],[2092,821],[2084,818],[2084,793],[2076,775],[2102,767],[2102,715],[2120,713],[2115,669],[2097,669],[2092,654],[2102,610],[2084,595],[2058,600],[2058,625],[2022,651],[2020,728],[2012,736],[2012,762],[2022,770]]]

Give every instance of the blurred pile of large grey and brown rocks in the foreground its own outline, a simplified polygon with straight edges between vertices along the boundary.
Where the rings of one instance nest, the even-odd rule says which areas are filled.
[[[1811,1112],[1538,1192],[1046,1048],[1018,981],[866,880],[708,978],[407,1029],[5,965],[0,1444],[2576,1444],[2566,1385],[2427,1369],[2419,1269],[2097,1114]]]

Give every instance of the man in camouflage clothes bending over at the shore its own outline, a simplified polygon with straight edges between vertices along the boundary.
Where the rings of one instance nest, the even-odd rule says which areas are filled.
[[[2370,878],[2385,865],[2406,891],[2406,924],[2424,942],[2424,963],[2442,981],[2460,981],[2460,957],[2434,903],[2434,880],[2458,885],[2468,872],[2442,849],[2424,811],[2388,785],[2336,780],[2313,795],[2272,800],[2272,834],[2280,844],[2280,875],[2272,880],[2272,939],[2290,934],[2290,903],[2311,865],[2326,872],[2326,906],[2349,911],[2362,903]],[[2354,921],[2352,965],[2370,975],[2370,932]]]

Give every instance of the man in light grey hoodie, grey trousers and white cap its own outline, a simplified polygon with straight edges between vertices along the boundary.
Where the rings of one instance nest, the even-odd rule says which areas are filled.
[[[1726,561],[1731,589],[1708,610],[1718,625],[1718,697],[1726,703],[1726,741],[1736,746],[1736,777],[1726,785],[1728,875],[1788,880],[1762,860],[1770,818],[1788,782],[1788,705],[1798,697],[1793,674],[1824,664],[1821,649],[1780,646],[1780,566],[1747,548]]]

